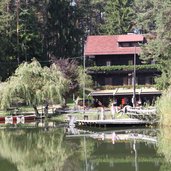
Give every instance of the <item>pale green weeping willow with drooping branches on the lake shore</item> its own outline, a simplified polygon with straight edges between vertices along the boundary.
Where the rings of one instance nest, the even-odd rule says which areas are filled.
[[[63,77],[56,65],[42,68],[33,59],[31,63],[22,63],[3,86],[1,86],[0,106],[7,109],[14,98],[22,98],[39,115],[37,106],[51,101],[62,103],[62,94],[67,91],[69,82]]]

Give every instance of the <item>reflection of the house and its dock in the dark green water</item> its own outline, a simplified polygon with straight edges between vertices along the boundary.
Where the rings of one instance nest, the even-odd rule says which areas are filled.
[[[156,129],[87,131],[68,128],[66,137],[80,139],[84,170],[160,170],[161,158],[155,149]],[[91,142],[91,146],[88,145]],[[81,149],[81,148],[80,148]]]

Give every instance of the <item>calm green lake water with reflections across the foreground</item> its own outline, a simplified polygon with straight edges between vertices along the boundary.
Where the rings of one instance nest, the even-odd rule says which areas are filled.
[[[66,128],[58,123],[0,130],[0,171],[166,171],[157,129]]]

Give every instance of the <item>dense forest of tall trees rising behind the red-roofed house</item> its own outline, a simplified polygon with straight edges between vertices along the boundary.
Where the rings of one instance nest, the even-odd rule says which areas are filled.
[[[170,0],[0,0],[0,80],[33,57],[43,66],[52,58],[81,61],[87,35],[134,32],[152,35],[141,56],[161,64],[166,88],[170,11]]]

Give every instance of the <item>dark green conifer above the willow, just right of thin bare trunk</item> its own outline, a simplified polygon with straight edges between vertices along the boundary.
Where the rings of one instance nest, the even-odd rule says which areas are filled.
[[[19,13],[19,49],[21,61],[30,61],[33,57],[41,58],[42,37],[35,7],[21,6]]]

